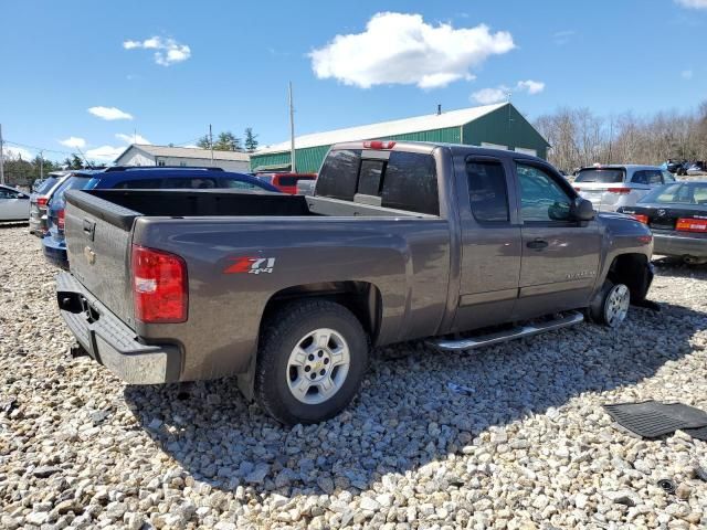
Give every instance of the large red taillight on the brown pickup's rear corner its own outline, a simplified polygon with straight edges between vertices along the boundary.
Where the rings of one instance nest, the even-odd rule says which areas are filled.
[[[135,318],[146,324],[184,322],[187,264],[169,252],[133,245]]]

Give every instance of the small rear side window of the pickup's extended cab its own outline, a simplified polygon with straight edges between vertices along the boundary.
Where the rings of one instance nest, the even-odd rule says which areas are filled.
[[[476,221],[495,223],[508,221],[506,172],[500,162],[466,162],[468,200]]]

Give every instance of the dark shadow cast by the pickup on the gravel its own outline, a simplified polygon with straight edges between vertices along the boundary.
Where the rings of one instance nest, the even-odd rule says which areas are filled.
[[[152,439],[214,488],[356,494],[384,475],[462,454],[489,426],[534,414],[561,422],[571,398],[652,377],[688,354],[689,339],[707,328],[706,314],[680,306],[630,315],[619,330],[582,324],[469,354],[437,353],[423,342],[379,350],[349,409],[306,427],[270,420],[234,380],[128,386],[125,399]],[[454,393],[449,382],[474,392]],[[509,443],[518,436],[508,428]]]

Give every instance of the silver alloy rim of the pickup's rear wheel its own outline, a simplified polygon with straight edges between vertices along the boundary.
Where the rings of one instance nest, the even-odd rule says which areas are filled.
[[[350,364],[344,337],[334,329],[315,329],[299,339],[289,353],[287,388],[302,403],[324,403],[341,390]]]

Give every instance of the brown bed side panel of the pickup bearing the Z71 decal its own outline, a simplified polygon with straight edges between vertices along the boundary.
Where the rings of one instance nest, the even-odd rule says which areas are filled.
[[[188,321],[137,329],[148,340],[183,346],[182,380],[245,371],[268,300],[288,287],[372,284],[381,297],[379,344],[435,335],[446,308],[450,230],[443,219],[139,218],[134,243],[187,262]],[[226,273],[247,257],[274,258],[272,273]]]

